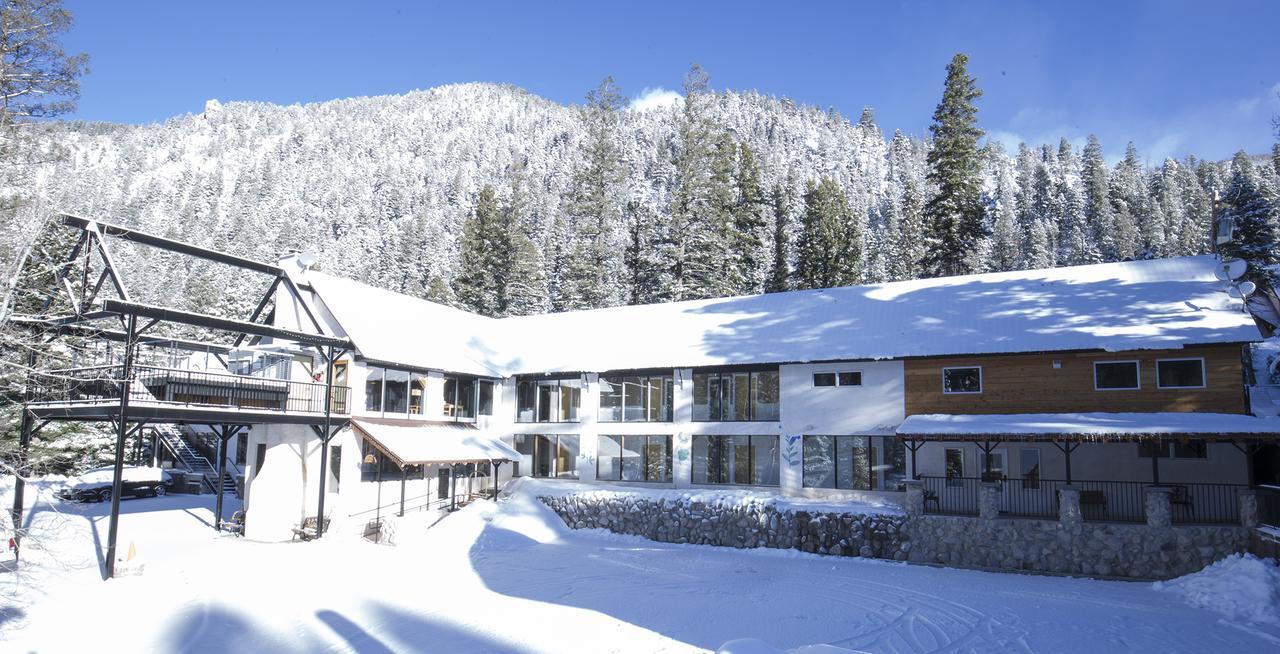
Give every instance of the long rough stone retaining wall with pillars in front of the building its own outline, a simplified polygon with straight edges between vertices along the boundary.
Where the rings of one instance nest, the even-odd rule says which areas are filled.
[[[982,490],[979,517],[925,514],[916,485],[908,489],[906,514],[806,512],[768,502],[649,499],[607,490],[538,499],[572,529],[607,529],[660,543],[1132,578],[1194,572],[1247,550],[1252,531],[1247,525],[1172,526],[1169,498],[1158,490],[1147,498],[1147,525],[1085,522],[1079,491],[1070,489],[1062,491],[1056,521],[1000,518],[993,498],[993,489]],[[1242,512],[1249,507],[1242,502]]]

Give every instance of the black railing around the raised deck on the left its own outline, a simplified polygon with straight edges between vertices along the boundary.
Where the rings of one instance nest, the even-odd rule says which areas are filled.
[[[134,366],[131,402],[164,402],[300,413],[323,413],[325,385],[311,381],[246,378],[204,370]],[[33,379],[33,401],[91,403],[120,398],[120,366],[50,371]],[[330,407],[347,413],[351,389],[333,387]]]

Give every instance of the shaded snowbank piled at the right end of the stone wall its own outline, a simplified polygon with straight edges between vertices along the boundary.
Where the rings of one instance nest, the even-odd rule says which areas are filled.
[[[1271,559],[1233,554],[1199,572],[1157,581],[1155,589],[1233,621],[1280,625],[1280,568]]]

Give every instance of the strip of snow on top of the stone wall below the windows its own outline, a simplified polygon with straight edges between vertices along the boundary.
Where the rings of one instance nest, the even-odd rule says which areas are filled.
[[[512,494],[531,497],[582,497],[588,499],[627,498],[646,499],[657,502],[701,502],[714,507],[742,507],[748,504],[772,506],[780,511],[808,511],[812,513],[854,513],[854,514],[888,514],[899,516],[905,513],[902,504],[893,498],[861,497],[858,499],[841,498],[795,498],[782,495],[777,491],[735,489],[735,488],[637,488],[616,484],[598,484],[586,481],[567,480],[541,480],[531,477],[518,477],[518,484],[508,486]]]

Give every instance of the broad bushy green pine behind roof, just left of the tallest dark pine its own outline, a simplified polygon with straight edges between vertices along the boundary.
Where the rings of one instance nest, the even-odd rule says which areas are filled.
[[[863,232],[849,197],[829,177],[809,183],[796,242],[796,288],[831,288],[861,282]]]

